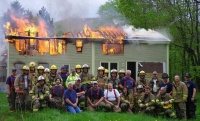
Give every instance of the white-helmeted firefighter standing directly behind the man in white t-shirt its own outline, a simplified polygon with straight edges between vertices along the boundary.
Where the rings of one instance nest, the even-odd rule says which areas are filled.
[[[107,80],[106,82],[106,87],[108,86],[108,83],[112,83],[113,84],[113,89],[119,89],[118,85],[119,85],[119,79],[117,78],[117,70],[116,69],[112,69],[110,71],[111,73],[111,77],[110,79]]]

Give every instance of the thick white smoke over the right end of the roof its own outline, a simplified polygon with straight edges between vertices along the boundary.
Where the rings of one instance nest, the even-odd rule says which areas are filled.
[[[128,39],[132,38],[147,38],[160,41],[161,39],[165,41],[170,41],[170,36],[167,31],[164,29],[161,32],[152,30],[152,29],[144,29],[144,28],[134,28],[134,26],[123,26],[123,30],[127,34]],[[161,31],[161,30],[160,30]]]

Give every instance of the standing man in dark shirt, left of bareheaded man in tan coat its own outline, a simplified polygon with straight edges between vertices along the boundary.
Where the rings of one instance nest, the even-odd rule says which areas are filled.
[[[161,84],[161,87],[165,87],[166,93],[171,95],[172,94],[172,84],[169,82],[168,78],[169,78],[169,76],[167,73],[162,74],[163,83]]]

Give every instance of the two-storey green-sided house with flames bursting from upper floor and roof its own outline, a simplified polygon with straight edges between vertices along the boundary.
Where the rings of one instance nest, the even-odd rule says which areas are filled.
[[[94,75],[100,65],[108,70],[130,69],[133,78],[137,78],[139,70],[146,71],[150,77],[154,70],[161,74],[169,69],[170,41],[164,37],[129,36],[122,28],[93,30],[87,25],[78,34],[68,32],[62,37],[48,37],[42,21],[35,26],[14,16],[12,19],[17,29],[9,22],[4,25],[8,42],[7,73],[12,68],[19,73],[21,66],[31,61],[44,67],[66,65],[68,70],[86,63]]]

